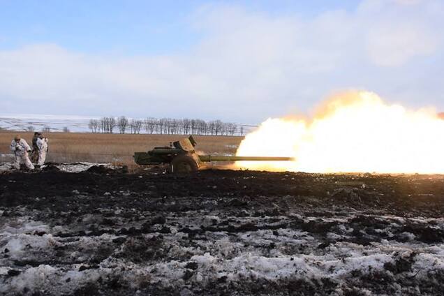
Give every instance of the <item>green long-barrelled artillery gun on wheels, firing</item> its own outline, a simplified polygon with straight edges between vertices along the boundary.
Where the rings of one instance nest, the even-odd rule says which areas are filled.
[[[195,172],[202,163],[212,161],[293,161],[291,157],[200,155],[195,151],[195,145],[197,142],[190,135],[188,138],[172,142],[170,147],[155,147],[147,152],[135,152],[133,157],[138,165],[168,164],[171,172]]]

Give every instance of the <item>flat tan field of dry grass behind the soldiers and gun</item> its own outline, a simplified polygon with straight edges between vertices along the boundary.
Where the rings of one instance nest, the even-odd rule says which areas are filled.
[[[0,132],[0,162],[11,161],[10,142],[17,132]],[[34,133],[20,133],[31,145]],[[93,133],[46,133],[49,139],[47,161],[73,163],[88,161],[95,163],[133,163],[135,151],[147,151],[153,147],[168,146],[184,135],[133,135]],[[195,136],[199,151],[207,154],[235,154],[244,137],[239,136]],[[6,155],[5,155],[6,154]]]

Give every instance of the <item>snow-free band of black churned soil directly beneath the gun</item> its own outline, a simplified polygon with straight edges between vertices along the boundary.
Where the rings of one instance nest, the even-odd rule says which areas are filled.
[[[138,198],[128,205],[128,200],[117,198],[116,194],[104,195],[121,192],[131,192]],[[77,174],[48,169],[40,173],[15,172],[0,178],[0,206],[3,207],[26,205],[64,210],[67,201],[78,203],[80,193],[95,196],[77,205],[82,210],[102,207],[103,202],[145,209],[158,198],[193,197],[189,205],[182,206],[196,208],[202,198],[222,198],[224,205],[249,210],[251,203],[269,211],[270,202],[279,202],[288,206],[283,209],[330,205],[399,216],[441,217],[444,214],[444,176],[439,175],[318,175],[235,170],[203,170],[191,175],[131,175],[91,167]],[[47,199],[36,200],[41,197]]]

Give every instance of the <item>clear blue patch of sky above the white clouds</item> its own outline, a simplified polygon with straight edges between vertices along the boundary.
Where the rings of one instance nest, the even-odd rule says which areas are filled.
[[[165,54],[187,50],[202,38],[189,27],[192,15],[209,4],[242,6],[252,12],[310,17],[351,9],[356,1],[8,1],[0,0],[0,48],[57,43],[100,54]]]

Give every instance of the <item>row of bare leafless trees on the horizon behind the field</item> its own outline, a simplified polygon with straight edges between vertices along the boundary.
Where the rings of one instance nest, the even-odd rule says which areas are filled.
[[[244,135],[244,127],[220,120],[102,117],[91,119],[91,133],[145,133],[164,135]]]

